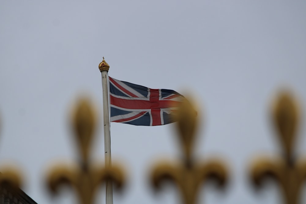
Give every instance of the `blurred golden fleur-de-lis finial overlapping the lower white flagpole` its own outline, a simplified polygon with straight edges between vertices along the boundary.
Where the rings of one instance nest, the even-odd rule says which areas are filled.
[[[125,180],[118,166],[99,167],[90,162],[91,143],[95,131],[96,116],[88,99],[80,99],[73,115],[73,130],[76,136],[80,159],[76,167],[58,166],[47,175],[49,189],[56,193],[62,184],[69,184],[76,191],[80,204],[93,204],[99,186],[106,180],[120,188]]]

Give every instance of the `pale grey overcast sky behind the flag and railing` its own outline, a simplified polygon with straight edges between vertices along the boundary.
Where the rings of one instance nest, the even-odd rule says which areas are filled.
[[[252,191],[248,165],[280,151],[269,120],[280,87],[294,91],[305,113],[305,11],[305,0],[1,0],[0,165],[19,166],[39,204],[74,202],[69,190],[51,199],[44,174],[53,161],[76,159],[69,113],[81,93],[99,110],[93,157],[104,163],[104,56],[111,77],[190,92],[200,104],[197,157],[218,155],[231,170],[228,191],[205,186],[200,203],[279,203],[275,185]],[[297,152],[306,156],[301,124]],[[114,203],[177,203],[174,187],[154,195],[148,184],[158,158],[180,154],[173,128],[111,124],[112,159],[129,178]],[[105,203],[104,188],[97,198]]]

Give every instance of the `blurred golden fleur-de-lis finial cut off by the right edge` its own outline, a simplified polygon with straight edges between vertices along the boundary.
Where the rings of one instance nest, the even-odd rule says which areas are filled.
[[[262,184],[264,178],[274,178],[285,204],[300,203],[302,184],[306,179],[306,160],[298,160],[294,154],[299,113],[297,101],[292,95],[288,91],[280,93],[273,104],[272,119],[282,154],[275,160],[259,158],[251,167],[251,178],[256,187]]]

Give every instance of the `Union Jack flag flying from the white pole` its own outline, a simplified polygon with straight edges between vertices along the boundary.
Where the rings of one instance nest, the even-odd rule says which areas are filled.
[[[184,96],[169,89],[151,89],[109,77],[110,121],[155,126],[175,122],[172,114]]]

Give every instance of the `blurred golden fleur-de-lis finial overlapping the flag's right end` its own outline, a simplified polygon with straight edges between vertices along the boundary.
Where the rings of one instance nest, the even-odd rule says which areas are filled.
[[[196,204],[202,184],[212,179],[223,187],[228,171],[223,162],[216,159],[203,163],[195,161],[192,153],[198,117],[188,100],[181,102],[176,117],[184,156],[178,164],[169,161],[157,164],[151,173],[151,183],[155,189],[159,189],[164,180],[170,180],[178,186],[182,203]]]

